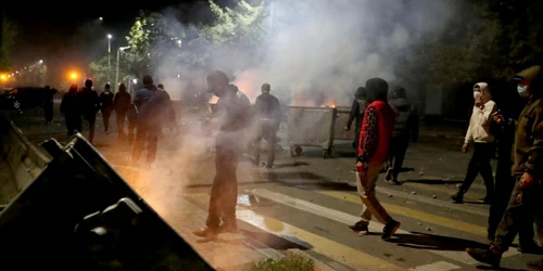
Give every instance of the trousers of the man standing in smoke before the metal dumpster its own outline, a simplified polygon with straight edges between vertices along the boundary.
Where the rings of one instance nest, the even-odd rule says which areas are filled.
[[[277,125],[275,121],[261,121],[258,124],[258,130],[256,137],[251,142],[250,149],[252,150],[252,155],[255,163],[261,160],[261,141],[266,140],[266,152],[268,155],[266,166],[272,167],[275,160],[275,144],[277,140]]]

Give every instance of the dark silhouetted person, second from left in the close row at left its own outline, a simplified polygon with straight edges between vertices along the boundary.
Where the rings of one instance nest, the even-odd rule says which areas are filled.
[[[100,109],[100,99],[92,89],[92,80],[85,80],[85,87],[78,93],[79,104],[81,105],[81,116],[89,125],[89,142],[94,141],[94,127],[97,122],[97,113]]]

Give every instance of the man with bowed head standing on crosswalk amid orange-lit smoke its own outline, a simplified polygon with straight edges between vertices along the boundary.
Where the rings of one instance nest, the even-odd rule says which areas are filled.
[[[207,76],[210,91],[217,95],[215,141],[215,179],[211,190],[210,209],[205,227],[193,233],[205,238],[215,238],[220,232],[236,232],[236,203],[238,180],[236,170],[243,150],[243,134],[250,120],[251,102],[230,85],[220,70]],[[223,224],[220,224],[223,222]]]

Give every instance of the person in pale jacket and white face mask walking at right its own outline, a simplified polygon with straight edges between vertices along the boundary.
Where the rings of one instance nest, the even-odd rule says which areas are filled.
[[[494,196],[494,177],[490,165],[490,158],[493,156],[492,152],[494,151],[494,136],[491,132],[491,125],[492,114],[497,111],[497,106],[492,101],[489,86],[485,82],[478,82],[473,86],[473,112],[462,146],[462,151],[467,153],[469,143],[475,142],[473,155],[469,162],[466,178],[458,193],[454,194],[452,198],[454,203],[463,203],[464,194],[468,192],[469,186],[480,172],[484,180],[484,186],[487,186],[487,196],[481,198],[481,202],[490,204]]]

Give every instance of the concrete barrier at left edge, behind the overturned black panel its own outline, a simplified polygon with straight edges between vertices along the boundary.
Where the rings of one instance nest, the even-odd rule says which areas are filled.
[[[47,167],[51,159],[36,147],[4,114],[0,114],[0,151],[7,159],[21,192]]]

